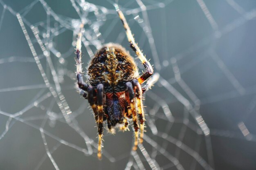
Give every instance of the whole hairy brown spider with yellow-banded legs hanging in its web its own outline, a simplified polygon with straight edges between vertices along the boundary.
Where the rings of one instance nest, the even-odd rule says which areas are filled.
[[[89,84],[86,84],[83,81],[82,74],[81,37],[83,24],[81,24],[75,52],[76,78],[79,93],[85,99],[88,99],[97,123],[99,133],[97,156],[99,159],[102,157],[101,145],[104,121],[107,122],[108,131],[114,134],[117,124],[123,125],[120,130],[128,130],[129,120],[132,119],[135,130],[133,150],[137,150],[138,140],[140,143],[143,142],[145,116],[142,94],[148,91],[159,77],[158,74],[155,74],[148,80],[153,75],[153,68],[135,43],[124,14],[117,5],[116,10],[126,30],[130,47],[135,51],[146,71],[139,76],[137,65],[126,49],[119,44],[108,43],[103,45],[92,58],[88,67]],[[141,84],[146,81],[146,85],[141,88]]]

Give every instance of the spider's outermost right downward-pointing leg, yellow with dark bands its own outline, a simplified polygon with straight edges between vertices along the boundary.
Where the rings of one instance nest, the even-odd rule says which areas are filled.
[[[142,143],[143,136],[144,136],[144,122],[146,121],[145,115],[144,115],[143,103],[142,103],[142,90],[141,90],[139,81],[137,79],[132,80],[132,85],[134,86],[134,90],[135,90],[135,96],[137,99],[137,106],[138,106],[138,113],[139,113],[139,121],[140,121],[139,142]]]

